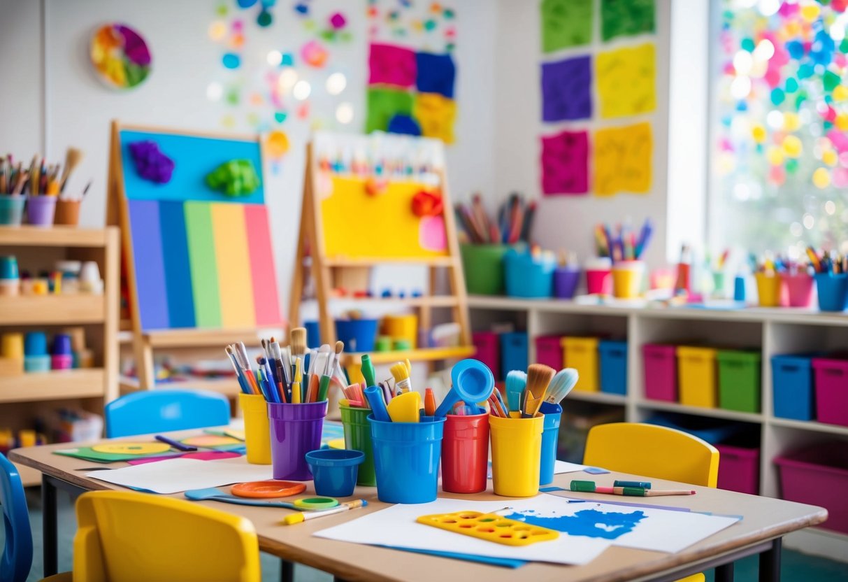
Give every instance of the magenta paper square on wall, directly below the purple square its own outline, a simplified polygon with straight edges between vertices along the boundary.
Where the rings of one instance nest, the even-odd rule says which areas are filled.
[[[542,192],[589,193],[589,134],[560,132],[542,137]]]

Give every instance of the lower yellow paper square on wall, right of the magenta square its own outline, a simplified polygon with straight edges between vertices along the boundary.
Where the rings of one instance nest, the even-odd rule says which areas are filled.
[[[620,192],[648,193],[653,137],[650,123],[594,132],[593,190],[597,196]]]

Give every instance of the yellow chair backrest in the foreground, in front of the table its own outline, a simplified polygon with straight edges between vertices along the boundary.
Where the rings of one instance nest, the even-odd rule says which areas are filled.
[[[91,491],[76,501],[74,579],[259,582],[254,524],[192,501]]]

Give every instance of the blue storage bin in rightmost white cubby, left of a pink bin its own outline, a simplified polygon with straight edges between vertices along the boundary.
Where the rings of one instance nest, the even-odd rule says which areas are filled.
[[[812,420],[815,415],[812,354],[772,356],[774,416]]]

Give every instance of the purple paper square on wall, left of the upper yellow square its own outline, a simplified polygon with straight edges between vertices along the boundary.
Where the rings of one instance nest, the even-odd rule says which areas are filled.
[[[592,116],[592,63],[575,57],[542,64],[542,120],[585,120]]]

